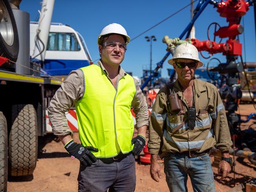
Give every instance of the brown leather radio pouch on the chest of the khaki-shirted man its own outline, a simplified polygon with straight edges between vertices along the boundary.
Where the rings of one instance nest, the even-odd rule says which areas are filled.
[[[182,100],[180,100],[178,98],[177,93],[171,92],[171,90],[173,90],[173,86],[174,86],[174,83],[170,83],[170,84],[166,85],[167,96],[168,96],[168,100],[169,100],[169,102],[167,102],[167,104],[170,105],[171,111],[178,113],[178,114],[185,113],[184,106],[182,104]]]

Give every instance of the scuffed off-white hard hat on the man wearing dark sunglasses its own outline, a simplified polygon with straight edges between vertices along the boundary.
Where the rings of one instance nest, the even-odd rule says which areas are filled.
[[[203,63],[200,61],[198,57],[198,50],[197,48],[188,42],[180,44],[173,55],[172,59],[168,60],[168,63],[170,65],[173,65],[174,59],[192,59],[198,62],[197,67],[200,67],[203,65]]]

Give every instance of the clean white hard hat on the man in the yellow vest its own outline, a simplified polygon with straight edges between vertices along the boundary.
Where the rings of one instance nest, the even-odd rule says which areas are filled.
[[[124,35],[126,37],[125,44],[128,44],[128,42],[130,41],[130,37],[127,35],[127,32],[123,26],[121,26],[120,24],[117,24],[117,23],[111,23],[108,26],[103,28],[100,35],[98,36],[97,43],[99,44],[99,39],[102,35],[108,35],[110,33]]]

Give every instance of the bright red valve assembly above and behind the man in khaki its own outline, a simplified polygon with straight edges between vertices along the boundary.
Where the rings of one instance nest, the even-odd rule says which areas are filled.
[[[240,18],[249,10],[249,2],[245,0],[222,0],[217,6],[217,12],[221,17],[226,17],[228,26],[220,27],[219,24],[213,22],[210,24],[215,25],[214,40],[209,39],[209,28],[207,36],[209,41],[199,41],[198,39],[188,39],[195,45],[199,52],[207,51],[210,56],[215,53],[223,53],[223,55],[242,55],[242,44],[236,39],[236,36],[243,33],[243,26],[239,24]],[[219,30],[216,31],[217,26]],[[219,36],[221,39],[228,37],[225,43],[215,42],[215,37]],[[204,57],[204,56],[203,56]]]

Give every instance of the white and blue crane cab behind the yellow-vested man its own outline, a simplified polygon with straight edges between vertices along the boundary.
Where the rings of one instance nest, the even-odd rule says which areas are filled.
[[[34,52],[37,28],[38,22],[30,22],[30,55]],[[82,35],[70,26],[51,23],[43,70],[51,76],[65,76],[71,70],[91,63],[91,55]]]

